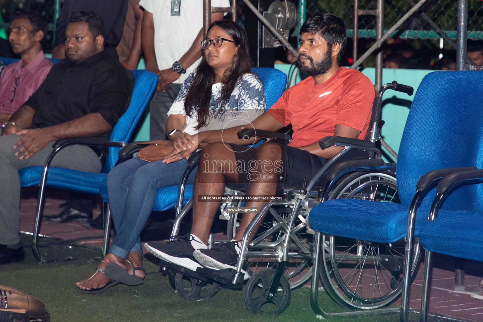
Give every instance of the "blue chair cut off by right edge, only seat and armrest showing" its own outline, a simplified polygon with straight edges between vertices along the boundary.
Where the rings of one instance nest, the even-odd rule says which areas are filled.
[[[482,106],[480,104],[476,107]],[[478,133],[474,141],[481,146],[482,139]],[[483,187],[481,183],[483,183],[483,170],[458,169],[446,175],[437,186],[437,195],[427,218],[429,222],[419,234],[419,242],[426,250],[421,322],[426,322],[428,317],[433,252],[483,262]],[[466,198],[459,200],[457,204],[452,204],[451,210],[447,209],[447,203],[454,202],[454,199],[446,200],[448,196],[463,189],[466,190]],[[440,209],[443,203],[446,209]]]

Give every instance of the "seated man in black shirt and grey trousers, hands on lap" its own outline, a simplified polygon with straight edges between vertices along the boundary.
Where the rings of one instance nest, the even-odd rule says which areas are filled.
[[[104,52],[104,25],[93,12],[71,15],[66,59],[52,67],[39,89],[5,124],[0,137],[0,264],[20,261],[20,180],[18,169],[42,166],[56,140],[109,137],[126,111],[132,73]],[[99,172],[107,151],[73,145],[61,150],[53,167]]]

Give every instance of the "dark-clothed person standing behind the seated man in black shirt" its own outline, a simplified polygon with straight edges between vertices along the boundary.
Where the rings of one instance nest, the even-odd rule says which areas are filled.
[[[65,58],[64,33],[73,12],[93,11],[99,15],[106,28],[104,49],[109,56],[118,59],[115,47],[121,40],[124,20],[128,11],[128,0],[64,0],[56,23],[56,40],[52,58]]]

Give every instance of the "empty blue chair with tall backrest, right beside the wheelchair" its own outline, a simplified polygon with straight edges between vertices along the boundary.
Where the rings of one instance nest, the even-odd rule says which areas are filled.
[[[482,168],[482,77],[482,71],[436,71],[427,74],[419,85],[399,147],[397,178],[401,204],[334,199],[315,206],[309,215],[310,225],[317,231],[314,261],[316,264],[319,262],[318,266],[321,260],[317,257],[321,257],[323,249],[320,245],[322,234],[381,243],[406,238],[400,308],[400,319],[404,322],[408,319],[410,272],[418,266],[418,263],[412,264],[411,261],[413,237],[422,238],[421,232],[423,229],[426,231],[427,214],[436,194],[434,187],[451,172],[433,170]],[[443,218],[448,218],[446,211],[461,213],[461,210],[483,212],[483,190],[480,185],[455,191],[440,211],[440,223],[444,223]],[[464,216],[464,220],[467,220],[466,212]],[[481,229],[481,221],[479,227]],[[441,229],[436,231],[444,238],[451,238],[451,243],[458,243],[460,236],[450,237]],[[318,272],[319,267],[316,266],[313,266],[313,277]],[[316,290],[314,292],[315,300],[311,296],[313,309],[317,314],[322,314],[316,304]]]

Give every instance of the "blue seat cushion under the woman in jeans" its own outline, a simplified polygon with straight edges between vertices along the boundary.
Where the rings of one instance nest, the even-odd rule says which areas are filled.
[[[108,201],[107,197],[107,185],[106,180],[101,182],[99,186],[99,195],[105,202]],[[191,199],[193,195],[193,185],[186,184],[185,195],[183,198],[183,206]],[[176,207],[176,201],[178,199],[178,186],[170,185],[156,190],[156,199],[154,201],[154,211],[164,211],[170,208]]]

